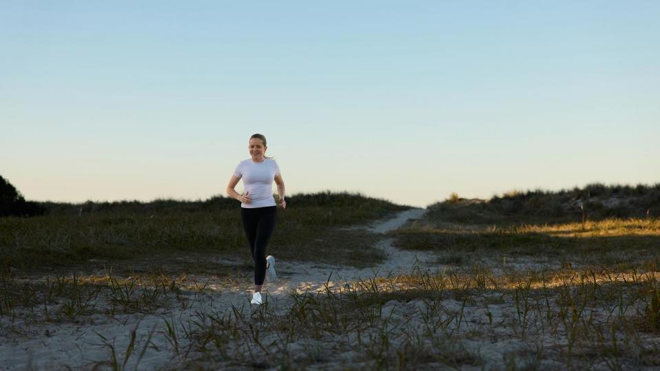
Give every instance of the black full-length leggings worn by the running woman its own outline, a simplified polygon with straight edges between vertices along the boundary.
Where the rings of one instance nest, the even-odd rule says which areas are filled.
[[[250,253],[254,260],[254,284],[263,284],[266,276],[266,246],[275,229],[276,206],[241,207],[241,218],[245,237],[248,238]]]

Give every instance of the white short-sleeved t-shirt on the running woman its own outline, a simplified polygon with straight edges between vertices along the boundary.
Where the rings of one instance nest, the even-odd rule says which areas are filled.
[[[241,203],[241,207],[254,209],[255,207],[276,206],[273,197],[273,179],[280,175],[280,168],[274,159],[264,159],[254,162],[246,159],[239,162],[234,170],[234,177],[243,179],[245,192],[252,203]]]

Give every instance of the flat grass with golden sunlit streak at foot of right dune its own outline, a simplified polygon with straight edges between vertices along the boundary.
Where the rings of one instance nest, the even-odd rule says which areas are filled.
[[[658,218],[490,226],[426,220],[393,235],[398,247],[435,251],[439,262],[449,265],[497,265],[507,256],[514,259],[511,262],[552,257],[555,262],[621,269],[642,260],[652,267],[660,262]]]

